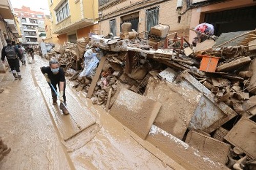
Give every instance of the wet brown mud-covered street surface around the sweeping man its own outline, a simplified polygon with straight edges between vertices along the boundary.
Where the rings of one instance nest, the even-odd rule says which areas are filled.
[[[11,148],[0,169],[173,169],[172,166],[179,166],[167,158],[166,162],[172,165],[160,161],[155,156],[162,157],[160,151],[155,148],[147,151],[103,108],[92,105],[84,94],[69,87],[67,105],[71,113],[69,119],[62,115],[50,105],[50,89],[39,69],[44,65],[48,61],[38,56],[32,64],[21,65],[22,81],[15,81],[9,72],[0,75],[0,87],[4,89],[0,94],[0,134]],[[65,141],[66,131],[72,136],[79,124],[74,118],[76,113],[72,112],[74,106],[79,114],[87,116],[80,119],[90,117],[91,122],[88,120],[89,126],[84,125],[84,129],[79,126],[79,132]]]

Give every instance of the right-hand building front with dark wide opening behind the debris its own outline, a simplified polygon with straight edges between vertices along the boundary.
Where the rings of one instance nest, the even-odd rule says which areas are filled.
[[[190,27],[199,23],[211,23],[215,35],[221,33],[254,30],[256,28],[256,1],[253,0],[193,0]],[[196,34],[190,32],[190,41]]]

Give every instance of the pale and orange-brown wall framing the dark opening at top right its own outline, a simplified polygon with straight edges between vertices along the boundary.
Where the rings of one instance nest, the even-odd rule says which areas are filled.
[[[229,1],[224,3],[204,6],[200,8],[195,8],[192,10],[192,13],[191,13],[190,27],[195,28],[197,25],[199,25],[199,23],[202,23],[204,21],[205,13],[242,8],[246,6],[252,6],[252,5],[256,5],[256,2],[252,2],[252,0],[236,0],[236,1]],[[193,31],[190,31],[189,41],[192,42],[194,37],[196,37],[196,33]]]

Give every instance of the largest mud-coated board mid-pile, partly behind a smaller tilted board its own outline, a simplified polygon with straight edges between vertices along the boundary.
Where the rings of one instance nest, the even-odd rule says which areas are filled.
[[[145,91],[147,98],[162,104],[154,125],[182,139],[202,94],[196,89],[150,78]]]

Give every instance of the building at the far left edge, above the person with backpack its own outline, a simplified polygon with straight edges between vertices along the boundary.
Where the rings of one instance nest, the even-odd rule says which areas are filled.
[[[20,37],[18,22],[9,0],[0,0],[0,53],[7,45],[6,39],[18,42]]]

